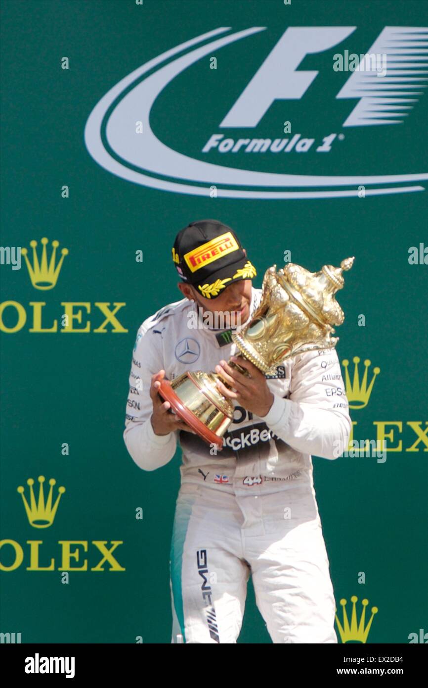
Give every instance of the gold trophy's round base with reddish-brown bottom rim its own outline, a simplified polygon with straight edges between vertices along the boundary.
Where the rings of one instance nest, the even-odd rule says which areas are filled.
[[[158,392],[200,438],[223,449],[223,435],[233,420],[234,405],[218,390],[216,377],[214,373],[187,372],[172,382],[162,380]]]

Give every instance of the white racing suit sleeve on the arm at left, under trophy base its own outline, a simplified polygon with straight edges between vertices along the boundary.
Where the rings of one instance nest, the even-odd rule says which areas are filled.
[[[177,447],[177,434],[155,435],[150,416],[153,402],[150,398],[152,375],[165,369],[161,343],[153,332],[139,327],[133,350],[129,391],[126,400],[124,442],[137,466],[144,471],[155,471],[168,463]],[[158,335],[159,336],[159,335]]]

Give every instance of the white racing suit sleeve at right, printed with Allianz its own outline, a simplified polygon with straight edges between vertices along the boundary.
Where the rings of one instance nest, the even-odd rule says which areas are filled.
[[[296,451],[336,459],[352,428],[336,350],[296,356],[290,391],[289,399],[274,394],[264,422]]]

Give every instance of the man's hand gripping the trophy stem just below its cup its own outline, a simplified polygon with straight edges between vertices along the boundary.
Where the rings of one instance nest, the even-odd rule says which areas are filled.
[[[236,391],[227,389],[221,380],[217,380],[218,389],[229,399],[235,399],[247,411],[256,413],[256,416],[263,418],[271,408],[274,399],[264,374],[246,358],[232,356],[232,361],[245,368],[251,377],[247,378],[243,373],[231,368],[226,361],[220,361],[220,364],[216,365],[216,372],[221,374]]]

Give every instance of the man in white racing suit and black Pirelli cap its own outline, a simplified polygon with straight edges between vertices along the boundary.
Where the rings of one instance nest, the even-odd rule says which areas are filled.
[[[205,253],[197,255],[209,256],[213,241],[217,247],[218,237],[229,241],[230,235],[238,248],[224,251],[218,264],[212,259],[202,279],[192,281],[199,268],[192,275],[185,257],[199,248]],[[225,363],[239,353],[230,329],[189,323],[197,305],[208,308],[216,289],[210,295],[206,288],[209,282],[218,287],[218,280],[224,283],[223,306],[232,299],[227,305],[239,307],[241,325],[251,319],[261,297],[251,278],[245,279],[256,272],[254,266],[233,231],[214,220],[182,230],[172,254],[179,288],[187,295],[139,327],[124,429],[128,453],[145,471],[168,463],[177,442],[183,453],[170,556],[172,643],[236,643],[250,573],[273,643],[337,643],[311,460],[311,454],[333,460],[348,447],[351,421],[337,353],[286,359],[273,377],[246,361],[254,379],[245,380],[244,388],[243,376]],[[237,268],[240,261],[245,269]],[[228,268],[230,277],[224,277]],[[196,370],[233,378],[231,390],[222,388],[235,410],[221,451],[157,394],[162,378]]]

